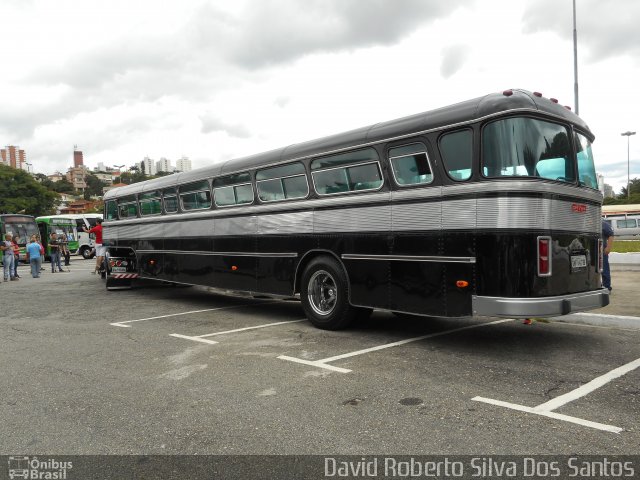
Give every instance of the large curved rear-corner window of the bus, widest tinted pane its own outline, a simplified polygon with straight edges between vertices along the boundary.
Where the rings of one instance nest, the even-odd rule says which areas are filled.
[[[486,177],[538,177],[574,183],[571,141],[566,127],[533,118],[507,118],[482,132]]]

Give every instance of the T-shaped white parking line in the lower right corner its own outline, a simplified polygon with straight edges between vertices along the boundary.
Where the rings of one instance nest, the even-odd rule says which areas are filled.
[[[584,420],[582,418],[570,417],[568,415],[562,415],[560,413],[553,412],[553,410],[560,408],[569,402],[573,402],[578,398],[582,398],[585,395],[588,395],[594,390],[597,390],[598,388],[606,385],[612,380],[615,380],[616,378],[619,378],[622,375],[629,373],[638,367],[640,367],[640,358],[638,358],[637,360],[634,360],[633,362],[629,362],[625,365],[622,365],[621,367],[618,367],[614,370],[611,370],[610,372],[607,372],[604,375],[594,378],[589,383],[585,383],[584,385],[576,388],[575,390],[571,390],[570,392],[567,392],[564,395],[560,395],[556,398],[553,398],[548,402],[541,403],[536,407],[527,407],[524,405],[502,402],[500,400],[494,400],[491,398],[484,398],[484,397],[474,397],[471,400],[475,400],[477,402],[489,403],[491,405],[497,405],[499,407],[510,408],[512,410],[518,410],[521,412],[542,415],[543,417],[564,420],[565,422],[576,423],[578,425],[596,428],[598,430],[604,430],[607,432],[620,433],[622,431],[622,428],[620,427],[615,427],[613,425],[606,425],[603,423],[592,422],[590,420]]]

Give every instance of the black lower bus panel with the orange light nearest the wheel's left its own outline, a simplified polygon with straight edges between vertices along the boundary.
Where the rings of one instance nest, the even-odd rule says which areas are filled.
[[[257,291],[257,259],[225,255],[225,252],[256,252],[254,236],[216,237],[213,241],[213,286],[229,290]],[[195,258],[195,257],[194,257]],[[198,257],[202,261],[202,257]]]

